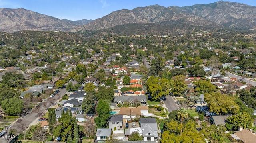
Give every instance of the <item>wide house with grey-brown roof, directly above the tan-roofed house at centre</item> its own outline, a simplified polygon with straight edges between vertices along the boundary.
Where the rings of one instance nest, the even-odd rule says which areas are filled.
[[[124,102],[127,102],[129,106],[134,105],[140,105],[140,106],[146,106],[148,105],[147,98],[145,95],[140,96],[116,96],[114,99],[114,103],[116,104],[124,104]]]

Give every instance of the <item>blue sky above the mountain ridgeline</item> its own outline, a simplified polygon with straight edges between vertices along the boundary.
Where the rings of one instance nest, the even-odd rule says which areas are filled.
[[[192,6],[194,4],[209,4],[217,1],[218,0],[0,0],[0,8],[25,8],[59,19],[95,20],[121,9],[132,10],[136,7],[154,4],[165,7]],[[228,1],[256,6],[256,0]]]

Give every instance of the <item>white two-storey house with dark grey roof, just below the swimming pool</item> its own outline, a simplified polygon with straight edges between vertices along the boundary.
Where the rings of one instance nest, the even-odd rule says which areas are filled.
[[[123,126],[123,116],[122,115],[112,115],[108,121],[108,127],[114,131],[116,129],[122,129]],[[116,128],[116,129],[114,129]]]

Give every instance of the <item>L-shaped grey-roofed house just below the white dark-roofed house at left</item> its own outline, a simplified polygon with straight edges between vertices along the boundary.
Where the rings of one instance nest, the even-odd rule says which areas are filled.
[[[73,115],[81,114],[82,113],[82,107],[58,107],[55,109],[56,119],[61,117],[62,111],[66,113],[67,111],[70,111]]]

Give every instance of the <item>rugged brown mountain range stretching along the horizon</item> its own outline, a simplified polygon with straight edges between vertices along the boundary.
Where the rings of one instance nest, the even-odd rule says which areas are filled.
[[[119,33],[132,29],[137,33],[151,31],[175,31],[193,27],[254,29],[256,7],[236,2],[218,1],[193,6],[159,5],[122,9],[96,20],[60,20],[23,8],[0,8],[0,31],[113,31]],[[148,28],[146,28],[148,27]]]

